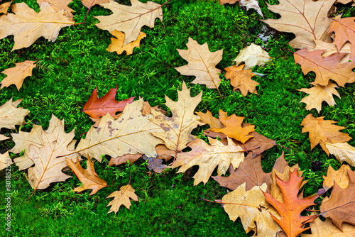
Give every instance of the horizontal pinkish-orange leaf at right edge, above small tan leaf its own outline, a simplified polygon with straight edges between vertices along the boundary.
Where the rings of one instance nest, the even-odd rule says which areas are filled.
[[[332,79],[340,87],[344,87],[346,83],[355,82],[355,73],[352,71],[355,67],[355,61],[340,64],[340,60],[346,53],[334,53],[328,57],[323,57],[322,53],[322,50],[310,52],[303,48],[293,55],[295,63],[301,65],[304,75],[311,71],[315,72],[316,84],[327,86],[329,79]]]

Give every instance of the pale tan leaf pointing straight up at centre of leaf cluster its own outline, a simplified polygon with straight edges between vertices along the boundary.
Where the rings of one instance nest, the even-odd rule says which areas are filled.
[[[173,101],[165,96],[165,105],[170,108],[172,117],[165,116],[160,111],[151,111],[153,114],[151,121],[163,130],[163,133],[151,133],[163,140],[166,147],[174,150],[175,153],[186,148],[187,143],[195,140],[191,131],[204,124],[199,121],[200,117],[194,114],[201,99],[202,92],[196,97],[191,97],[190,89],[187,89],[185,82],[183,82],[182,90],[178,91],[178,101]]]

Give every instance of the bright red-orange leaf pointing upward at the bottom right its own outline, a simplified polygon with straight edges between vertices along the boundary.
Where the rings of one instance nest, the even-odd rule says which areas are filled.
[[[317,194],[305,197],[303,199],[298,198],[298,192],[300,190],[300,185],[302,183],[303,177],[298,176],[298,170],[290,172],[290,178],[288,182],[280,180],[276,176],[276,182],[283,193],[284,202],[280,203],[271,194],[263,192],[266,197],[266,201],[271,204],[278,214],[280,214],[281,219],[271,214],[271,217],[276,221],[283,231],[285,231],[288,237],[298,236],[303,231],[308,228],[302,228],[304,224],[314,221],[317,216],[301,216],[301,212],[304,211],[308,206],[315,205],[315,199],[320,197],[322,191]]]

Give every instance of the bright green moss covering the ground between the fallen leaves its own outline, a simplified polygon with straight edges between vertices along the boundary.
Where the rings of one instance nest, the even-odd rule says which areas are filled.
[[[275,4],[273,0],[268,2]],[[38,10],[35,0],[26,3]],[[119,0],[119,3],[129,4],[129,0]],[[268,11],[265,2],[261,1],[260,5],[265,18],[278,17]],[[75,11],[75,21],[82,22],[87,9],[78,0],[70,7]],[[349,17],[355,16],[354,9],[342,6],[338,11]],[[238,4],[220,6],[217,0],[172,0],[163,6],[163,22],[156,20],[155,28],[143,27],[147,37],[141,41],[141,48],[134,49],[133,55],[117,55],[106,50],[110,44],[109,32],[94,26],[98,23],[94,16],[109,14],[109,10],[94,6],[85,24],[63,28],[55,43],[40,38],[30,48],[11,52],[13,37],[0,40],[0,71],[14,67],[15,62],[40,61],[19,92],[14,85],[0,91],[0,104],[11,97],[23,98],[20,106],[31,111],[25,126],[17,131],[1,130],[5,135],[19,130],[30,131],[33,124],[47,128],[50,117],[55,114],[65,119],[66,131],[75,129],[75,139],[80,139],[80,134],[92,126],[89,116],[81,110],[95,87],[102,97],[118,84],[117,100],[143,97],[152,106],[167,109],[163,105],[164,95],[176,100],[176,90],[181,89],[182,81],[192,82],[195,78],[182,76],[174,69],[187,64],[176,49],[186,49],[189,37],[200,44],[207,42],[212,52],[224,50],[223,60],[217,67],[225,78],[223,69],[231,65],[239,50],[256,42],[256,36],[265,25],[259,21],[261,16],[256,11],[246,11]],[[310,87],[308,83],[315,75],[304,76],[300,65],[295,65],[293,54],[284,50],[293,50],[287,44],[292,38],[292,34],[278,33],[268,43],[268,52],[274,59],[266,67],[253,69],[253,72],[267,74],[253,77],[260,83],[258,95],[243,97],[240,92],[233,91],[226,79],[222,79],[219,87],[223,98],[216,89],[190,83],[188,87],[192,88],[192,96],[203,91],[197,111],[208,109],[217,116],[222,109],[229,115],[245,116],[245,121],[255,125],[258,133],[289,148],[275,146],[268,150],[263,157],[263,168],[270,172],[275,159],[285,151],[290,165],[299,163],[306,179],[310,180],[305,185],[305,195],[310,195],[320,188],[328,165],[339,168],[340,163],[328,157],[319,145],[310,150],[308,133],[301,133],[300,123],[310,111],[305,110],[305,104],[300,104],[306,94],[297,89]],[[4,77],[0,75],[0,79]],[[355,84],[347,84],[338,92],[342,99],[335,97],[336,106],[324,103],[320,114],[315,109],[311,113],[339,121],[337,125],[346,127],[344,133],[355,138]],[[195,129],[195,135],[202,136],[203,128]],[[354,140],[349,143],[355,145]],[[11,140],[2,142],[1,153],[13,145]],[[319,169],[315,162],[320,162]],[[205,186],[193,187],[191,177],[196,169],[192,170],[192,175],[176,174],[175,169],[149,176],[143,160],[120,167],[108,167],[107,164],[108,158],[101,164],[95,162],[95,169],[113,186],[97,194],[71,192],[80,185],[73,177],[37,191],[31,199],[28,197],[32,189],[25,172],[19,172],[13,165],[12,232],[9,235],[4,229],[5,202],[1,191],[0,236],[247,236],[241,221],[229,221],[221,205],[201,199],[222,199],[226,189],[212,179]],[[4,176],[3,172],[0,174]],[[121,206],[117,214],[107,214],[111,199],[105,197],[128,184],[130,176],[139,202],[132,202],[130,210]],[[5,187],[4,177],[1,177],[0,187],[0,190]]]

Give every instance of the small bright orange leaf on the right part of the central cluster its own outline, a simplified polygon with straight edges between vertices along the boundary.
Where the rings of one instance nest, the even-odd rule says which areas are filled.
[[[229,138],[234,138],[243,144],[245,144],[249,138],[253,137],[250,135],[250,133],[255,131],[255,126],[249,125],[245,126],[244,128],[241,126],[244,117],[238,117],[233,114],[228,118],[219,118],[219,120],[224,124],[225,128],[212,128],[212,131],[223,133]]]

